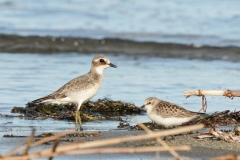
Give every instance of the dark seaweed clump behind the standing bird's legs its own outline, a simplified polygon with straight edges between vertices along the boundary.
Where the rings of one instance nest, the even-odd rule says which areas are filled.
[[[82,121],[113,120],[114,116],[141,114],[144,112],[134,103],[113,101],[109,98],[88,101],[81,106]],[[74,104],[34,104],[29,102],[26,107],[14,107],[12,113],[22,113],[28,118],[54,118],[59,120],[75,120],[76,105]],[[119,118],[115,118],[118,120]]]

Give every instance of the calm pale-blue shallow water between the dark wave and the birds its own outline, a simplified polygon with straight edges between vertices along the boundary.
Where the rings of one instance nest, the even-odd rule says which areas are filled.
[[[9,115],[13,106],[24,107],[27,102],[49,94],[72,78],[85,74],[94,56],[75,53],[0,54],[0,114]],[[186,99],[183,96],[185,89],[239,90],[239,63],[107,56],[118,68],[105,70],[103,84],[93,100],[108,97],[141,106],[147,97],[155,96],[198,111],[201,98]],[[208,112],[240,108],[238,98],[207,97],[207,100]],[[149,121],[147,116],[138,118]],[[22,121],[19,120],[19,124]],[[2,122],[2,125],[7,122]],[[18,120],[14,120],[14,123],[18,123]]]

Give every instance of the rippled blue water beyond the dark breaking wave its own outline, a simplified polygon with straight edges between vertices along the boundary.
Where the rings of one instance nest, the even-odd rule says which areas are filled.
[[[0,0],[0,33],[240,46],[237,0]]]

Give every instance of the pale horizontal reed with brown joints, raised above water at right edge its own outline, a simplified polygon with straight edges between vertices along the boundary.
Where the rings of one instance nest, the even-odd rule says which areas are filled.
[[[232,90],[185,90],[184,96],[186,98],[190,96],[226,96],[226,97],[240,97],[240,91]]]

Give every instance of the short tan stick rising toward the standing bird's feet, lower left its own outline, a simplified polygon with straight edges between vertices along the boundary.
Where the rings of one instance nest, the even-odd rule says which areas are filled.
[[[55,140],[55,139],[57,139],[57,138],[63,137],[63,136],[65,136],[65,135],[68,135],[68,134],[71,134],[71,133],[74,133],[74,132],[75,132],[75,130],[73,130],[73,129],[68,130],[68,131],[66,131],[66,132],[61,132],[61,133],[56,134],[56,135],[53,135],[53,136],[51,136],[51,137],[46,137],[46,138],[43,138],[43,139],[41,139],[41,140],[39,140],[39,141],[36,141],[36,142],[30,144],[29,147],[35,147],[35,146],[41,145],[41,144],[43,144],[43,143],[46,143],[46,142],[49,142],[49,141],[52,141],[52,140]],[[23,149],[24,149],[24,146],[18,147],[18,148],[14,148],[14,149],[12,149],[11,151],[9,151],[8,153],[6,153],[6,154],[4,155],[4,157],[9,157],[9,156],[13,155],[14,153],[17,153],[17,152],[19,152],[19,151],[22,151]]]

